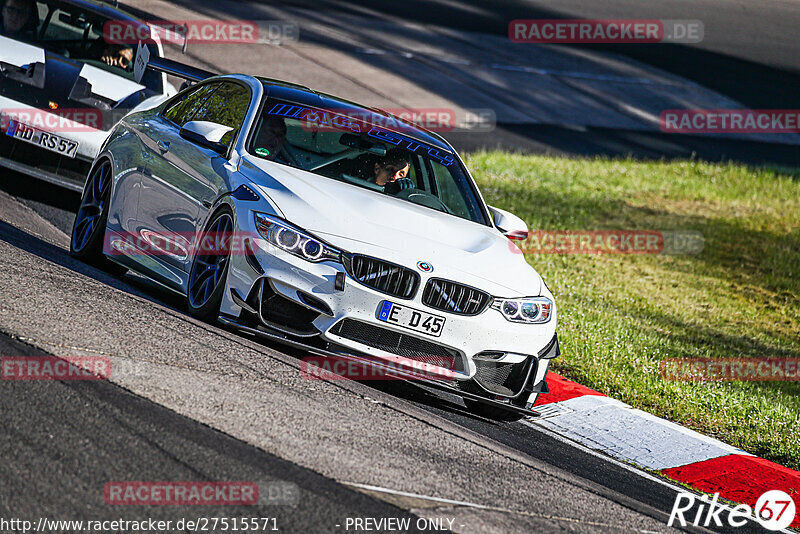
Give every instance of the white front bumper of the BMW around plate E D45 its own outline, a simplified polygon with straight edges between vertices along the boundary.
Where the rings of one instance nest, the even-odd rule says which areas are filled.
[[[247,319],[295,340],[317,337],[336,353],[422,368],[454,385],[470,381],[485,396],[524,400],[545,387],[549,360],[558,353],[555,309],[541,325],[509,322],[491,308],[474,316],[433,309],[422,303],[425,273],[411,299],[386,295],[353,279],[341,264],[308,262],[275,247],[250,225],[250,213],[237,219],[253,253],[232,257],[220,310],[228,320]],[[386,300],[445,317],[441,335],[378,320]]]

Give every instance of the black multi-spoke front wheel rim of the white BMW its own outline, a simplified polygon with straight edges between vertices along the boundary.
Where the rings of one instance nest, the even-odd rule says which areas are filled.
[[[223,282],[225,268],[230,261],[230,232],[233,220],[223,213],[203,234],[189,275],[189,302],[200,308]]]

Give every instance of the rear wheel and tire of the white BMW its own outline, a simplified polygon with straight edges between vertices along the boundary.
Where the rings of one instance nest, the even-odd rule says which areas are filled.
[[[122,276],[128,269],[112,262],[103,254],[103,239],[111,203],[112,175],[111,162],[107,159],[100,160],[89,173],[78,213],[72,223],[69,253],[84,263]]]

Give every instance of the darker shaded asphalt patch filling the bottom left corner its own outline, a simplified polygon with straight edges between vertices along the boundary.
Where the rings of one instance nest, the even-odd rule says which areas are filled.
[[[0,354],[49,356],[2,333]],[[17,516],[274,517],[287,532],[333,531],[347,517],[409,518],[416,525],[410,512],[107,381],[3,380],[0,391],[0,457],[13,460],[3,468],[0,502]],[[253,505],[119,506],[104,500],[111,481],[243,481],[258,484],[260,495]]]

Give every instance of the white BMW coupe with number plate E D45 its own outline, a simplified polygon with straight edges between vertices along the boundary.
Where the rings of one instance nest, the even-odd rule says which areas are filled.
[[[145,274],[195,316],[403,378],[424,367],[479,414],[530,414],[559,348],[553,296],[509,241],[525,223],[433,133],[209,76],[111,132],[72,253]]]

